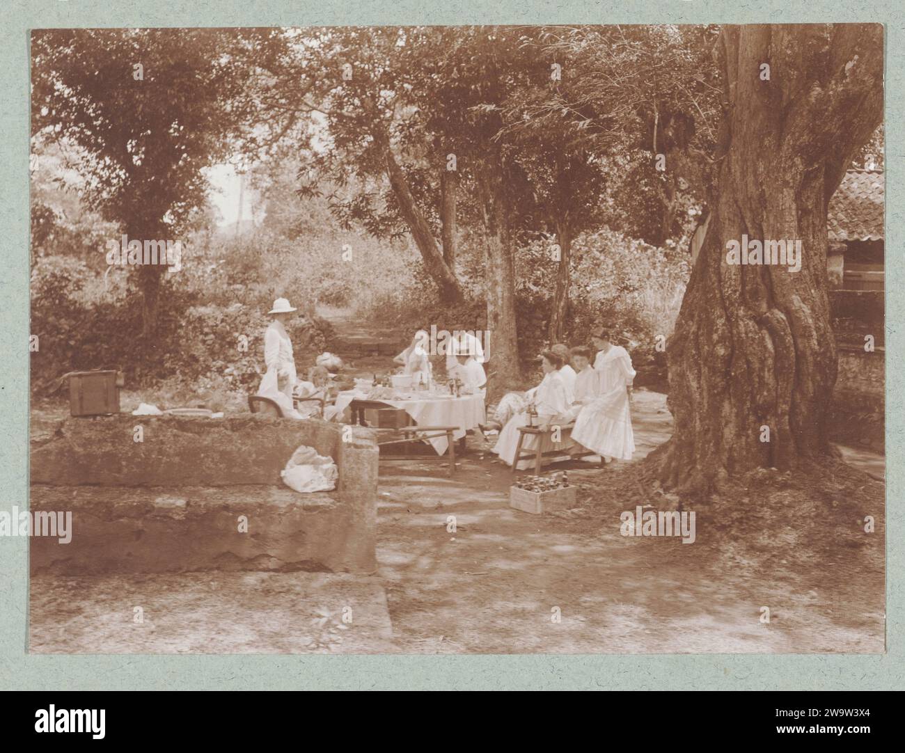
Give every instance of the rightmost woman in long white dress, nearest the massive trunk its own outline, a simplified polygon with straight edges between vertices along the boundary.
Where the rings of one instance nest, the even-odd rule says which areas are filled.
[[[634,369],[632,358],[622,346],[610,341],[607,329],[592,338],[599,352],[594,368],[600,380],[600,394],[578,414],[572,439],[601,459],[631,460],[634,452],[630,407]]]

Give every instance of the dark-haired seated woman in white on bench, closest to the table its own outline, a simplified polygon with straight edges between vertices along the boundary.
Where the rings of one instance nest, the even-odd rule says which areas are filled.
[[[559,369],[563,365],[562,358],[549,350],[545,350],[540,357],[544,378],[533,390],[533,394],[529,398],[529,405],[533,405],[538,412],[538,425],[546,429],[554,424],[557,416],[567,413],[569,402],[566,385],[559,374]],[[511,465],[515,461],[515,450],[519,443],[519,426],[525,426],[528,422],[529,415],[526,408],[526,410],[512,415],[500,431],[500,437],[491,452],[498,454],[500,460],[507,465]],[[551,434],[541,434],[539,437],[533,434],[526,435],[522,449],[534,448],[538,439],[541,442],[542,452],[562,450],[563,459],[567,459],[567,449],[571,445],[571,441],[567,439],[565,442],[554,443]],[[518,467],[519,470],[523,470],[529,466],[530,461],[523,460],[519,462]]]

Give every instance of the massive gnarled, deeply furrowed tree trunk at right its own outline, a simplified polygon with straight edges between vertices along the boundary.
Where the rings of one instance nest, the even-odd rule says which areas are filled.
[[[723,29],[717,190],[668,345],[675,428],[662,476],[680,491],[828,450],[826,208],[881,121],[882,44],[879,24]],[[727,243],[742,234],[800,240],[801,270],[727,263]]]

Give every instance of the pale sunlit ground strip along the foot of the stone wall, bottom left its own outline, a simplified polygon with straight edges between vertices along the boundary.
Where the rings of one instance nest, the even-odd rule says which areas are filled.
[[[395,650],[375,578],[214,571],[39,576],[30,586],[33,653]]]

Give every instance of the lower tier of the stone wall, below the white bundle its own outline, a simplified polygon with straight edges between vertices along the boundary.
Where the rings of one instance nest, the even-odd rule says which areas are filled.
[[[34,484],[31,509],[72,513],[71,541],[31,539],[33,575],[376,569],[375,500],[279,486]]]

